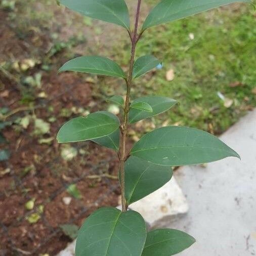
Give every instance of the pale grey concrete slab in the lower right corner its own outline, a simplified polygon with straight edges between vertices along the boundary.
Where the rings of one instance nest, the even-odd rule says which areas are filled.
[[[176,173],[190,210],[169,226],[197,240],[181,256],[256,254],[256,109],[221,139],[241,161],[227,158],[205,168],[181,167]]]

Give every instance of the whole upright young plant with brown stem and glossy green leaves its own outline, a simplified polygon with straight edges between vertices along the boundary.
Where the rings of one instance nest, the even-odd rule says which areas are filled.
[[[143,136],[130,152],[125,144],[130,125],[172,108],[177,101],[162,96],[135,99],[131,103],[133,80],[149,72],[160,61],[154,56],[135,61],[138,41],[146,29],[182,19],[234,0],[163,0],[149,13],[139,30],[141,1],[138,0],[134,29],[124,0],[60,0],[67,8],[82,15],[122,26],[131,39],[129,72],[125,74],[114,61],[100,56],[78,57],[60,68],[120,77],[126,84],[126,98],[113,96],[109,101],[122,106],[121,121],[112,113],[98,111],[65,123],[57,136],[59,143],[92,140],[117,152],[122,210],[104,207],[84,222],[76,241],[76,256],[169,256],[191,246],[195,239],[173,229],[146,230],[142,216],[127,207],[159,189],[173,175],[172,166],[200,164],[239,155],[215,136],[189,127],[167,126]],[[240,2],[249,2],[241,0]]]

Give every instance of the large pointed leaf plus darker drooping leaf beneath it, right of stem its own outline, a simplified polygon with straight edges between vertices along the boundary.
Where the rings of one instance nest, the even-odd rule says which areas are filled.
[[[161,188],[172,178],[170,166],[199,164],[239,155],[217,137],[189,127],[168,126],[142,137],[125,162],[127,205]]]

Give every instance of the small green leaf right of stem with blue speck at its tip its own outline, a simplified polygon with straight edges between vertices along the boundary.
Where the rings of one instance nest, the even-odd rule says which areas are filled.
[[[142,56],[134,63],[133,77],[137,78],[149,72],[159,64],[160,61],[152,55]]]

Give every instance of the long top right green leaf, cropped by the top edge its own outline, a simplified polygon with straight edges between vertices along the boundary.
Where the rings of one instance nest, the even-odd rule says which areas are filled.
[[[149,13],[142,30],[236,2],[251,3],[250,0],[163,0]]]

